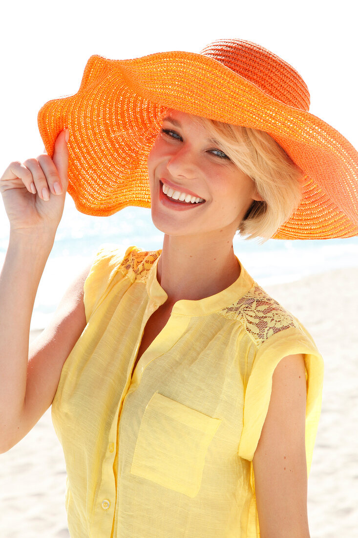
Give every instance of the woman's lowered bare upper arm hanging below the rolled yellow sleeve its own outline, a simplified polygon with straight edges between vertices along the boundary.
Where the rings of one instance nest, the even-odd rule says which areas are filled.
[[[278,363],[253,466],[261,538],[309,538],[303,355]]]

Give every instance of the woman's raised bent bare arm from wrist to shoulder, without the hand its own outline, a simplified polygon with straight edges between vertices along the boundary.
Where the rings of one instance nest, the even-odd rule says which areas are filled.
[[[0,453],[18,443],[52,403],[62,366],[86,324],[83,285],[89,272],[73,282],[29,350],[42,264],[30,245],[8,251],[7,258],[0,277]]]

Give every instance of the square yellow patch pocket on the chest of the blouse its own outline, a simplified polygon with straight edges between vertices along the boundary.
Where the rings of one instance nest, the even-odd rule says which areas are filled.
[[[131,473],[195,497],[220,423],[155,392],[140,423]]]

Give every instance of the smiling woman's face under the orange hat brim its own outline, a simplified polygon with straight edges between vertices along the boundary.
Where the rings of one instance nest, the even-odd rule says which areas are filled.
[[[164,118],[148,172],[152,220],[168,235],[225,229],[233,237],[252,201],[260,200],[253,181],[184,112],[170,110]]]

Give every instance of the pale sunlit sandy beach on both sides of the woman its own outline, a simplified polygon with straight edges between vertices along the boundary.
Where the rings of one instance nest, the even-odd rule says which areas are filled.
[[[325,359],[309,479],[311,538],[358,536],[357,275],[350,268],[266,286],[311,332]],[[65,487],[65,463],[48,410],[30,434],[0,455],[1,538],[68,537]]]

